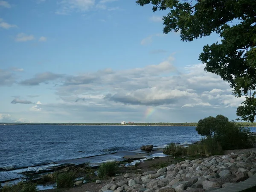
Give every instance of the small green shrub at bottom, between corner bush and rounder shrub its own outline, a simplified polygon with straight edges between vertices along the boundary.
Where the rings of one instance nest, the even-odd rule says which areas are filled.
[[[74,184],[76,172],[68,171],[56,174],[56,184],[58,188],[71,187]]]

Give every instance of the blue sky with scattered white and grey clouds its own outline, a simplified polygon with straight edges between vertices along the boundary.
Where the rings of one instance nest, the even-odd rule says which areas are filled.
[[[0,122],[236,119],[244,98],[204,71],[203,46],[163,34],[136,0],[0,0]]]

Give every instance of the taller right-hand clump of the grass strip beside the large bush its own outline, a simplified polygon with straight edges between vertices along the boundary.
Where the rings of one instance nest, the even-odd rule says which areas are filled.
[[[198,144],[189,145],[186,149],[189,156],[223,154],[221,145],[211,137],[202,139]]]

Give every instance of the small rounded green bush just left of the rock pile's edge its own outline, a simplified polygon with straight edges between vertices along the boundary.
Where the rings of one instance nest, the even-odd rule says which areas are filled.
[[[102,163],[101,166],[99,166],[98,175],[100,178],[105,178],[107,176],[111,177],[116,174],[117,169],[118,169],[118,166],[114,161]]]

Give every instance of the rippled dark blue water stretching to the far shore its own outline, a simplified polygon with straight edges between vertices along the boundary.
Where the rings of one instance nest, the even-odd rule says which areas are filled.
[[[256,132],[256,128],[251,128]],[[200,140],[195,127],[0,125],[0,167]]]

